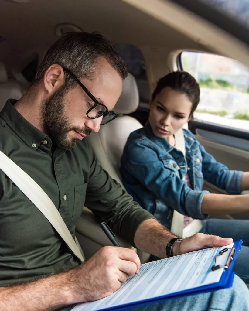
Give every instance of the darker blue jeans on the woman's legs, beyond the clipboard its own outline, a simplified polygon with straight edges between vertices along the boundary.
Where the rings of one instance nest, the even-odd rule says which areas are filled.
[[[234,264],[234,272],[249,283],[249,220],[207,219],[203,221],[202,233],[243,240],[243,246]]]

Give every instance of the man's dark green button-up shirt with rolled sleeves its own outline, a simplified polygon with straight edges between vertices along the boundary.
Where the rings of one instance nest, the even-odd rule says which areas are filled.
[[[48,194],[71,234],[83,206],[134,244],[151,214],[133,202],[98,164],[87,138],[65,151],[7,101],[0,113],[0,150]],[[84,250],[83,250],[84,251]],[[31,281],[78,265],[43,214],[0,170],[0,286]]]

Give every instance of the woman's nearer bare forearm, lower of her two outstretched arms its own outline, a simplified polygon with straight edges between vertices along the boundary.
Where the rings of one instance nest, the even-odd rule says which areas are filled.
[[[249,211],[249,195],[205,194],[201,211],[203,214],[224,215]]]

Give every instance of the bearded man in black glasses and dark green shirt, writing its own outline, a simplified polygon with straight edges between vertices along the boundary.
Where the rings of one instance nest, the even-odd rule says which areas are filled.
[[[118,51],[102,35],[63,36],[48,50],[26,94],[3,108],[0,150],[44,189],[73,237],[85,205],[137,248],[165,258],[175,235],[101,169],[86,138],[117,117],[112,109],[126,76]],[[231,242],[196,234],[178,240],[173,255]],[[0,310],[55,310],[100,299],[139,267],[136,253],[120,247],[104,247],[80,264],[48,220],[0,171]],[[235,277],[230,289],[136,310],[249,310],[248,296]]]

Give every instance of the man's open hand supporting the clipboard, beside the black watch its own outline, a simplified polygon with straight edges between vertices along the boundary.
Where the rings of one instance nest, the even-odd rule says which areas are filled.
[[[195,235],[176,242],[173,247],[173,255],[181,255],[193,251],[197,251],[205,247],[226,246],[233,243],[233,239],[224,239],[217,235],[208,235],[204,233],[196,233]]]

